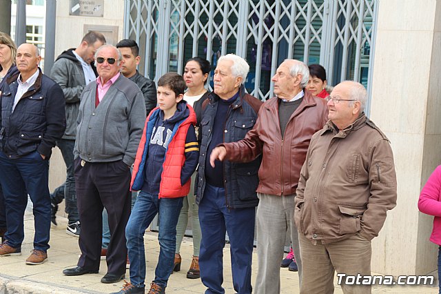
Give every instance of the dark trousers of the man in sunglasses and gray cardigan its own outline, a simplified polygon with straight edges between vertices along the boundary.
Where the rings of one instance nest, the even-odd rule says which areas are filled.
[[[110,243],[107,248],[107,272],[125,273],[127,247],[125,226],[130,216],[130,168],[122,160],[90,163],[74,161],[76,199],[81,222],[78,266],[99,269],[103,208],[109,215]]]

